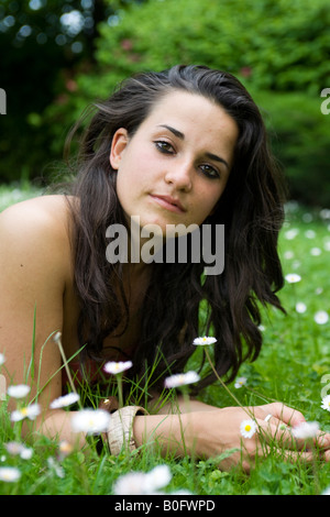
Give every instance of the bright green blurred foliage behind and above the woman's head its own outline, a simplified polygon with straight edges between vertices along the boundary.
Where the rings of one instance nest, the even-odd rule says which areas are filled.
[[[329,25],[328,0],[130,2],[98,25],[94,59],[75,68],[74,91],[64,88],[45,110],[30,113],[29,123],[38,134],[46,129],[47,157],[58,157],[86,105],[132,73],[177,63],[226,69],[261,107],[292,197],[329,206],[330,116],[320,110],[320,91],[330,87]],[[40,174],[35,164],[30,173]]]

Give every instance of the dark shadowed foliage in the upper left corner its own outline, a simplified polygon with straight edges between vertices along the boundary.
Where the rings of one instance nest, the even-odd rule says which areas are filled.
[[[75,92],[77,72],[94,64],[99,22],[132,1],[144,0],[0,1],[0,88],[7,92],[0,183],[47,178],[67,128],[57,118],[48,120],[45,109],[65,105]],[[72,120],[69,107],[66,114]],[[59,141],[53,146],[55,135]]]

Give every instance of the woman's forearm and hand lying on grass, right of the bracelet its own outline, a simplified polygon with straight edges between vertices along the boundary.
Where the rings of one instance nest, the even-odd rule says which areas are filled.
[[[272,418],[266,421],[267,415],[272,415]],[[280,403],[221,409],[196,403],[190,413],[136,419],[141,419],[140,424],[134,424],[134,430],[140,437],[138,442],[158,441],[164,453],[170,451],[178,455],[212,458],[230,449],[238,449],[221,462],[221,470],[241,464],[249,472],[257,457],[265,457],[271,451],[289,461],[311,461],[314,458],[312,450],[304,447],[306,443],[296,440],[290,432],[290,428],[306,421],[304,416]],[[256,431],[251,438],[244,438],[241,424],[249,419],[255,421]],[[134,436],[136,437],[135,432]],[[314,443],[323,451],[324,459],[330,461],[330,435],[319,432]]]

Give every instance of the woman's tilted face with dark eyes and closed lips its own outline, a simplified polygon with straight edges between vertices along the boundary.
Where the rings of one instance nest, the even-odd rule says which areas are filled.
[[[238,127],[209,99],[173,90],[163,97],[132,138],[113,136],[110,163],[117,194],[140,226],[201,224],[224,190]]]

